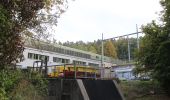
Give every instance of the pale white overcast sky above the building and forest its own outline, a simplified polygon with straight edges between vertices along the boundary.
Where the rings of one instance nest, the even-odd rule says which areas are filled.
[[[53,27],[57,41],[92,42],[130,34],[159,19],[159,0],[75,0]]]

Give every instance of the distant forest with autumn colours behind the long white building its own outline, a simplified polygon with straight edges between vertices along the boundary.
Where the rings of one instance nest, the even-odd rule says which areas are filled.
[[[130,51],[131,51],[131,59],[135,59],[136,54],[136,48],[137,48],[137,40],[136,38],[129,38],[130,41]],[[101,54],[101,40],[97,40],[94,42],[87,42],[84,43],[83,41],[77,41],[77,42],[59,42],[58,44],[81,49],[97,54]],[[128,41],[126,38],[119,38],[118,40],[108,40],[104,41],[104,55],[109,56],[112,58],[118,58],[121,60],[127,60],[128,59]]]

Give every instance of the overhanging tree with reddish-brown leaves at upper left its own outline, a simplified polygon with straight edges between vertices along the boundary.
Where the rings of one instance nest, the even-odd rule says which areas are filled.
[[[0,0],[0,69],[16,63],[17,58],[22,57],[22,36],[25,30],[38,29],[37,26],[42,24],[41,20],[55,20],[54,17],[38,15],[41,9],[47,9],[48,12],[52,5],[56,6],[58,18],[63,13],[60,6],[64,2],[65,0]]]

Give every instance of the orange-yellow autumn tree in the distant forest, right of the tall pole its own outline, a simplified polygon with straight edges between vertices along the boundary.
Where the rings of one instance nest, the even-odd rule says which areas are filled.
[[[111,40],[106,41],[104,45],[104,55],[112,58],[117,58],[116,48]]]

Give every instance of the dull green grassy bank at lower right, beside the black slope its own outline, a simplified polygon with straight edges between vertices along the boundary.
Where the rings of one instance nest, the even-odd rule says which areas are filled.
[[[170,100],[153,81],[121,81],[119,85],[126,100]]]

